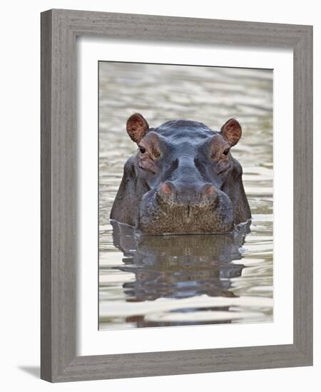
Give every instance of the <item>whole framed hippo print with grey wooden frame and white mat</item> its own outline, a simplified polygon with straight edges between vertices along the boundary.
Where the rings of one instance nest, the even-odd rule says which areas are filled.
[[[312,365],[312,27],[41,14],[41,378]]]

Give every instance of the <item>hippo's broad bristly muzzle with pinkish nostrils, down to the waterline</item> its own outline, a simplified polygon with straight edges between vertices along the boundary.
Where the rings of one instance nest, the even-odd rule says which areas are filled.
[[[233,226],[230,198],[210,182],[163,182],[143,197],[138,223],[146,234],[230,232]]]

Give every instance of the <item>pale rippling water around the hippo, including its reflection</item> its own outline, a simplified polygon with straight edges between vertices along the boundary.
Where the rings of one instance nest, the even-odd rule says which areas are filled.
[[[272,71],[153,64],[99,66],[99,329],[272,321]],[[253,221],[233,234],[146,237],[110,222],[136,145],[126,120],[237,118],[233,156]]]

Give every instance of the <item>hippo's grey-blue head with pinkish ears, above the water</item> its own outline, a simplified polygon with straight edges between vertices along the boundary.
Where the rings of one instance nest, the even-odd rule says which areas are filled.
[[[126,130],[138,150],[125,164],[111,219],[146,234],[230,232],[250,219],[231,154],[242,134],[237,120],[219,132],[188,120],[150,128],[135,113]]]

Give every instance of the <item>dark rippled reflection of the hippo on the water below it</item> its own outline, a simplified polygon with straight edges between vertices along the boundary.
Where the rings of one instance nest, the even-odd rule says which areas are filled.
[[[122,271],[135,274],[123,284],[128,301],[160,297],[234,296],[231,280],[240,277],[248,225],[228,234],[137,236],[133,227],[113,221],[113,244],[124,254]]]

